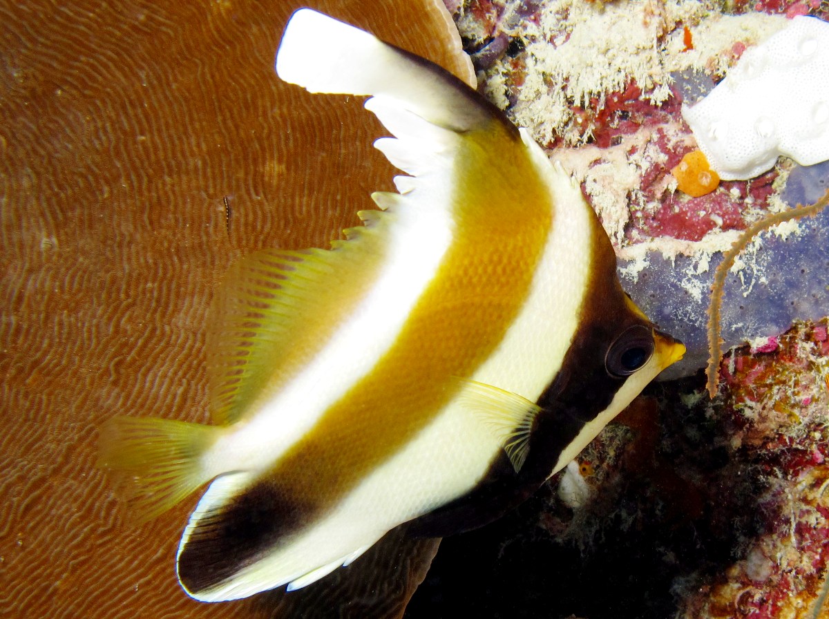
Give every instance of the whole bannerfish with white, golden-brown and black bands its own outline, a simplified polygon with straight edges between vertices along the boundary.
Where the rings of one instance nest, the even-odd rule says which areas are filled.
[[[395,568],[366,570],[401,549],[428,567],[437,544],[410,540],[523,501],[685,351],[623,292],[579,187],[453,75],[310,9],[276,70],[371,95],[395,136],[376,147],[407,176],[332,249],[230,268],[208,336],[214,425],[104,428],[101,462],[144,517],[211,482],[177,553],[206,602],[335,571],[376,583]]]

